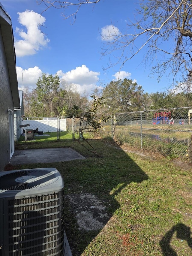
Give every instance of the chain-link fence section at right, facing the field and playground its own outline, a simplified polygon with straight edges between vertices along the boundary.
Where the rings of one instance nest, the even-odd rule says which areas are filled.
[[[186,159],[192,135],[192,107],[120,113],[103,125],[101,136],[110,136],[121,145]]]

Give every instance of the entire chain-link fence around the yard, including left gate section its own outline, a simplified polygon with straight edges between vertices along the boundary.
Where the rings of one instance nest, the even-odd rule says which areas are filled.
[[[170,158],[187,159],[192,135],[192,107],[119,113],[94,132],[81,123],[85,138],[112,137],[120,145]],[[57,139],[78,139],[80,121],[74,117],[16,117],[15,138],[32,129],[35,136],[56,133]],[[38,128],[38,131],[37,131]]]

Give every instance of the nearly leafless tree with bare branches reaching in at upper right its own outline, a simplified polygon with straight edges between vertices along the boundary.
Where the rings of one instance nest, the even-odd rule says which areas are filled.
[[[113,26],[110,36],[103,36],[103,55],[121,52],[115,62],[110,58],[109,67],[120,64],[122,68],[138,53],[145,53],[144,64],[151,65],[151,74],[158,73],[159,80],[167,70],[171,70],[167,75],[173,75],[173,82],[180,72],[181,80],[188,80],[192,71],[192,1],[148,0],[139,4],[134,23],[127,24],[127,33]]]

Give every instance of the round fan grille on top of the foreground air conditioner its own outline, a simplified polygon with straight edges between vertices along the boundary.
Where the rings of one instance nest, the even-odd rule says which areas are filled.
[[[55,173],[42,169],[19,170],[1,176],[0,189],[25,190],[37,188],[51,183],[55,177]]]

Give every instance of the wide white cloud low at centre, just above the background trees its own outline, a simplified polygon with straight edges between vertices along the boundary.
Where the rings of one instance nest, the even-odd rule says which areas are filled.
[[[76,85],[77,91],[81,94],[86,91],[91,93],[95,89],[95,83],[99,80],[99,72],[90,71],[85,65],[81,67],[76,67],[67,73],[63,73],[62,70],[57,71],[58,76],[61,79],[66,80],[68,83],[73,83]]]

